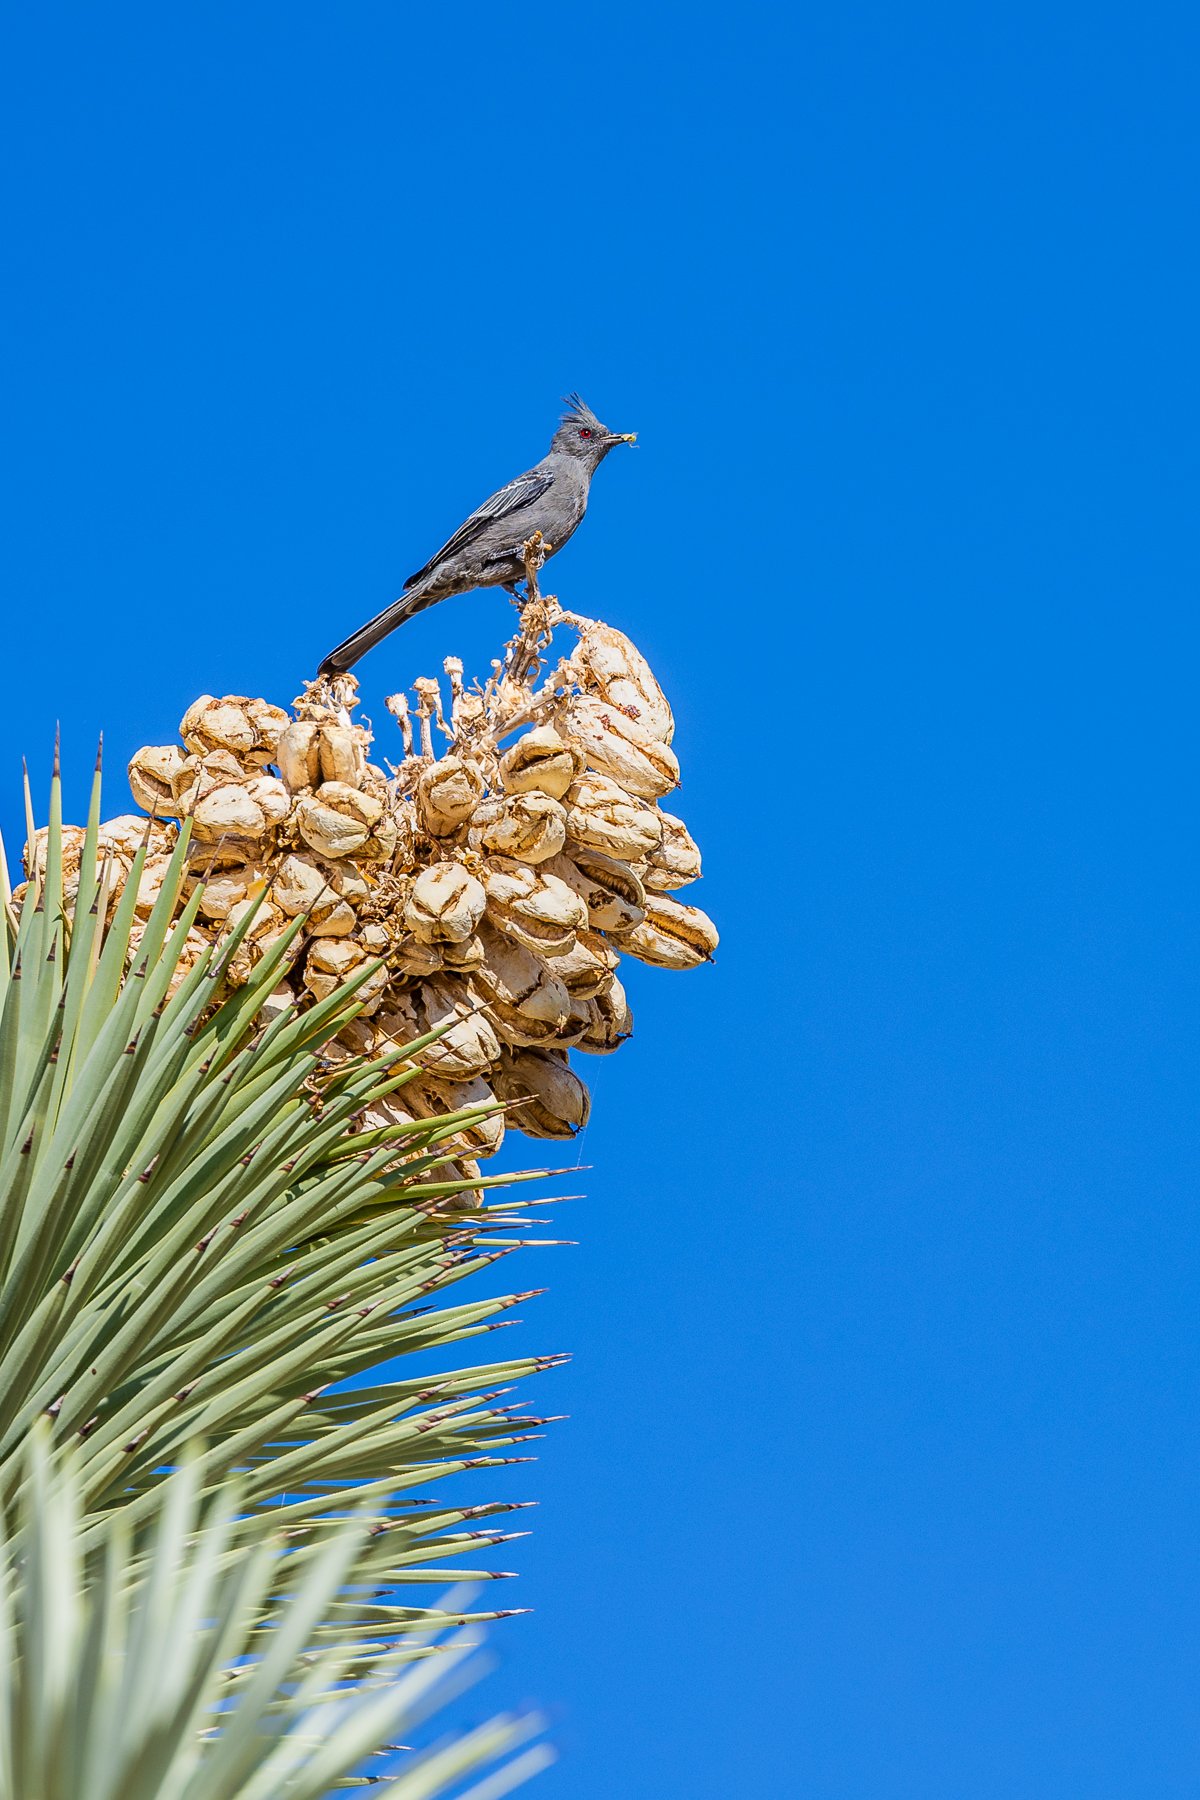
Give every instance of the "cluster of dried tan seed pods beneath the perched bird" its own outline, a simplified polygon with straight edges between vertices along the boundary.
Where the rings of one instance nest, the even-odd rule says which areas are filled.
[[[556,661],[561,628],[574,644]],[[178,745],[130,763],[153,823],[112,821],[103,853],[115,898],[149,833],[137,896],[148,916],[189,819],[189,891],[203,884],[194,954],[252,914],[230,970],[245,979],[302,916],[279,1004],[320,1001],[369,970],[345,1055],[444,1028],[419,1078],[369,1123],[495,1096],[506,1112],[461,1136],[473,1159],[498,1148],[504,1120],[534,1138],[574,1136],[588,1091],[569,1051],[606,1055],[633,1028],[621,958],[693,968],[716,931],[675,896],[698,878],[700,851],[664,810],[678,785],[675,722],[628,637],[534,585],[488,682],[468,691],[455,657],[444,671],[448,697],[425,677],[412,702],[387,702],[394,763],[371,761],[351,675],[311,682],[291,713],[201,695]],[[70,837],[76,857],[81,839]]]

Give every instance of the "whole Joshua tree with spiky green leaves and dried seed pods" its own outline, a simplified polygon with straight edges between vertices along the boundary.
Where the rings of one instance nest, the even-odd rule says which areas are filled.
[[[58,770],[31,819],[0,958],[0,1800],[318,1796],[509,1611],[416,1604],[513,1535],[486,1523],[513,1503],[428,1487],[527,1460],[545,1420],[507,1393],[561,1359],[403,1357],[529,1298],[448,1294],[552,1242],[480,1156],[506,1118],[587,1120],[569,1051],[628,1035],[619,956],[716,943],[671,896],[698,853],[658,806],[653,675],[536,594],[536,545],[529,572],[486,684],[448,659],[450,704],[389,702],[394,769],[338,677],[295,716],[201,697],[133,758],[140,819],[101,823],[99,770],[86,826]],[[398,1751],[385,1791],[507,1757],[471,1789],[500,1795],[534,1726]]]

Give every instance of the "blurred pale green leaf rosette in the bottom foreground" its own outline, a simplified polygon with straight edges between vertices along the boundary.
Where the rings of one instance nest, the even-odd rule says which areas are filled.
[[[363,1521],[304,1566],[270,1530],[236,1552],[237,1483],[201,1503],[201,1480],[185,1453],[140,1532],[117,1507],[90,1543],[77,1456],[50,1454],[45,1422],[31,1435],[23,1498],[0,1519],[0,1800],[322,1800],[363,1784],[495,1800],[547,1766],[536,1714],[394,1748],[428,1737],[471,1678],[470,1627],[347,1642],[336,1611]],[[389,1773],[356,1775],[363,1762]]]

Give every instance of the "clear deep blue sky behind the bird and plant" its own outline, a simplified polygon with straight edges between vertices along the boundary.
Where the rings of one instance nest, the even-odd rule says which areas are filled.
[[[545,1800],[1200,1789],[1198,36],[9,11],[7,835],[56,716],[77,806],[101,725],[288,700],[569,387],[640,432],[554,585],[671,691],[723,949],[529,1265]]]

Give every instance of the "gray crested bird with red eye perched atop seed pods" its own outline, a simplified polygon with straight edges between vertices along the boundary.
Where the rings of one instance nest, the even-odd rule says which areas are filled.
[[[522,544],[540,531],[547,554],[561,551],[588,509],[588,484],[613,445],[631,445],[637,432],[610,432],[578,394],[551,439],[549,455],[475,508],[435,556],[410,574],[399,599],[331,650],[318,675],[342,675],[398,625],[450,594],[473,587],[515,590],[525,574]]]

